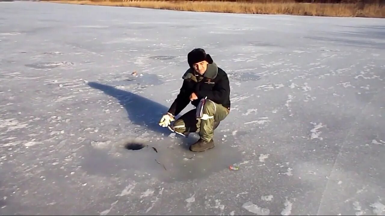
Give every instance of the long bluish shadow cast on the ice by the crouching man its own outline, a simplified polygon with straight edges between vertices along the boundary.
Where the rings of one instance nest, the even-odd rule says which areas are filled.
[[[120,90],[109,85],[96,82],[89,82],[88,85],[119,100],[119,103],[126,109],[128,118],[133,124],[147,128],[146,130],[152,130],[161,134],[163,133],[165,136],[169,136],[172,133],[167,128],[163,128],[158,124],[161,116],[168,110],[166,106],[129,91]],[[139,128],[138,130],[141,129],[142,128]],[[179,138],[178,136],[179,135],[176,135],[177,138]]]

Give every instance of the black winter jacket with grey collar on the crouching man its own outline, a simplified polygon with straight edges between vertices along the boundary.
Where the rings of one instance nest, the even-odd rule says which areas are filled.
[[[230,85],[229,78],[224,70],[219,68],[214,62],[208,64],[203,78],[194,73],[194,69],[189,68],[182,76],[182,87],[176,99],[170,106],[168,112],[177,116],[190,103],[191,93],[198,96],[197,100],[191,101],[195,107],[198,106],[202,98],[221,104],[230,110]],[[200,80],[200,81],[199,81]]]

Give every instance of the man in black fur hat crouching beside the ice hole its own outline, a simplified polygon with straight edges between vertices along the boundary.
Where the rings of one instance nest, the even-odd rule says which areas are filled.
[[[180,92],[159,125],[185,137],[191,132],[199,133],[200,139],[190,146],[190,150],[200,152],[214,148],[214,130],[229,114],[229,78],[201,48],[189,52],[187,62],[190,68],[182,76]],[[196,108],[174,121],[174,116],[190,101]]]

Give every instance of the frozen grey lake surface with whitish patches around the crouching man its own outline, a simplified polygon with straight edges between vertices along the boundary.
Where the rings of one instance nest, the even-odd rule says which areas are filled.
[[[384,19],[0,11],[0,214],[384,214]],[[194,47],[231,83],[204,153],[157,125]]]

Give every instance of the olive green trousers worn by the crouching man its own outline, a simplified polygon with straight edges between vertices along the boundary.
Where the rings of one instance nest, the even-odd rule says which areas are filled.
[[[199,133],[202,140],[209,142],[214,136],[214,123],[219,123],[229,115],[229,110],[224,106],[207,100],[203,106],[203,114],[214,116],[207,120],[196,119],[196,109],[192,109],[178,118],[172,129],[177,133],[188,135],[189,133]]]

